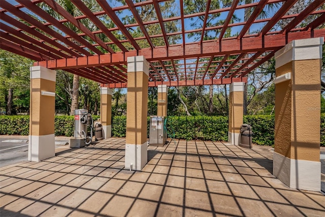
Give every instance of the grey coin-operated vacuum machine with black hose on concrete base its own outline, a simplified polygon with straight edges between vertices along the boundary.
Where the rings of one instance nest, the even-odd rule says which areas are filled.
[[[70,141],[70,147],[80,148],[85,145],[90,145],[93,136],[95,140],[102,140],[103,127],[101,123],[96,121],[94,126],[94,121],[92,116],[86,109],[76,109],[75,110],[75,131],[74,137]]]

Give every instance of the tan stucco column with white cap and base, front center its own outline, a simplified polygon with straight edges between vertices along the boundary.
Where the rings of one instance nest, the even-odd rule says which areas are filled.
[[[143,56],[127,57],[125,169],[147,164],[149,63]]]

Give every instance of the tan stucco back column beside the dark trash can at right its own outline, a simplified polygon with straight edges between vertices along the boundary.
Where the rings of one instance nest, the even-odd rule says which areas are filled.
[[[244,115],[244,85],[244,82],[234,82],[229,88],[228,141],[232,145],[239,145],[239,132]]]

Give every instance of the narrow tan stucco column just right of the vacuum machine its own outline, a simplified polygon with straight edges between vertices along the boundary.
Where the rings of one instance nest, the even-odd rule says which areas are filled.
[[[103,126],[103,138],[112,137],[112,90],[101,87],[101,122]]]

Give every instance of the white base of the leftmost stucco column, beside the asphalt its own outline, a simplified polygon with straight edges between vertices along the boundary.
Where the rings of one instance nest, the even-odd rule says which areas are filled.
[[[28,161],[43,161],[55,156],[54,134],[28,136]]]

